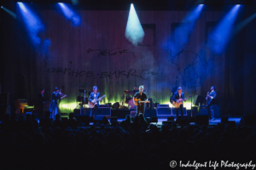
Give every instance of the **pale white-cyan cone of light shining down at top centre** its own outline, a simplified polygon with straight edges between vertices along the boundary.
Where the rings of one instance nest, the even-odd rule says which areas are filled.
[[[133,45],[137,46],[137,43],[143,42],[143,37],[145,33],[143,31],[143,26],[137,17],[137,13],[133,4],[131,3],[131,8],[127,20],[127,25],[125,28],[125,37]]]

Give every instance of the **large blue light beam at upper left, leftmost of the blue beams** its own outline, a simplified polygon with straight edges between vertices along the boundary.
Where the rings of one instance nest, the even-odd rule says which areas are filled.
[[[20,13],[22,14],[23,20],[26,24],[26,28],[27,31],[29,32],[29,36],[31,37],[32,42],[35,45],[40,44],[41,38],[38,37],[38,34],[41,31],[44,31],[44,25],[41,23],[41,21],[35,14],[32,14],[32,11],[26,8],[24,3],[18,3],[18,6],[21,9]]]

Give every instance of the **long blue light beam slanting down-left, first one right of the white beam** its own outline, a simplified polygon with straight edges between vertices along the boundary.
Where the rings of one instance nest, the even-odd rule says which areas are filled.
[[[204,4],[197,5],[182,21],[182,23],[175,29],[172,36],[178,37],[171,42],[171,55],[175,56],[183,46],[189,42],[189,36],[194,30],[196,20],[199,18]]]

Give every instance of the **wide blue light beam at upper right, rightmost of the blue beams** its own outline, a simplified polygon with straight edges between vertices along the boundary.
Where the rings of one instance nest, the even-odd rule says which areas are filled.
[[[224,19],[208,36],[208,44],[211,50],[216,54],[224,52],[227,42],[230,40],[230,32],[236,20],[236,15],[240,5],[235,5],[230,12],[224,16]]]

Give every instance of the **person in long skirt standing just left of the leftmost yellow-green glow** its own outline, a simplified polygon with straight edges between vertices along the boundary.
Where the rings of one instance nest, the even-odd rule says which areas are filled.
[[[50,118],[54,119],[55,115],[60,113],[58,100],[61,100],[61,96],[62,94],[60,93],[59,88],[55,88],[55,92],[52,93],[51,102],[49,105],[49,112],[51,113]]]

